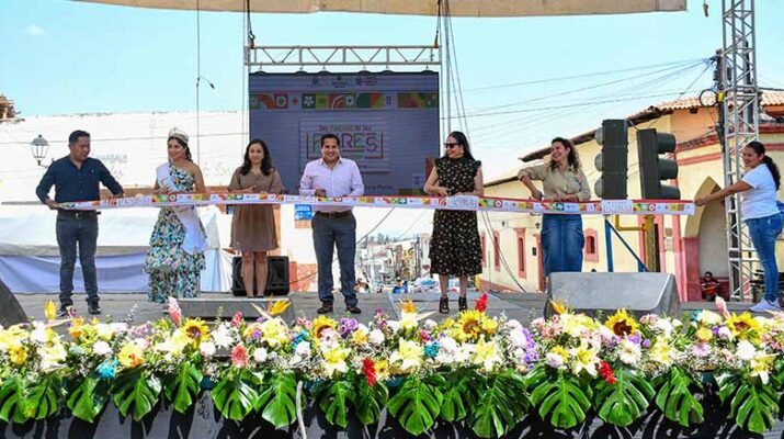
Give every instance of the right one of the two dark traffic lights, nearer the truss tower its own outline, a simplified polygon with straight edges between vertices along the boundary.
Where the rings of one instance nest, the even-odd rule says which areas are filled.
[[[661,180],[678,178],[675,160],[659,158],[660,154],[675,150],[675,136],[657,133],[656,128],[637,132],[637,157],[639,158],[639,189],[645,200],[680,200],[681,190]]]

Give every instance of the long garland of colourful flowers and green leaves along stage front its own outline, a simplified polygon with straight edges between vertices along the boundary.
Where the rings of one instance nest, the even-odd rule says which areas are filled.
[[[688,322],[625,311],[602,319],[554,304],[530,328],[476,308],[442,323],[401,304],[398,320],[367,325],[319,316],[287,325],[275,302],[258,320],[207,324],[169,317],[124,323],[34,322],[0,330],[0,418],[25,423],[66,406],[94,421],[106,404],[140,420],[160,401],[186,412],[209,390],[216,409],[277,428],[299,423],[308,401],[332,425],[375,423],[386,409],[412,435],[436,420],[502,436],[527,413],[560,429],[589,413],[628,426],[656,407],[684,427],[704,420],[698,395],[714,378],[735,423],[770,429],[784,390],[784,313],[694,312]],[[685,320],[685,319],[684,319]],[[68,325],[68,336],[54,326]]]

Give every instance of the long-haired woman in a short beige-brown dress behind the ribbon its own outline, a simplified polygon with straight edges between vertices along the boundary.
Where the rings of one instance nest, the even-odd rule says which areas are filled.
[[[266,144],[250,140],[245,149],[245,161],[231,176],[229,192],[283,193],[283,181],[272,167],[272,157]],[[266,252],[277,248],[275,216],[270,204],[235,206],[231,224],[231,247],[242,252],[242,280],[248,297],[253,296],[253,268],[259,294],[266,285]]]

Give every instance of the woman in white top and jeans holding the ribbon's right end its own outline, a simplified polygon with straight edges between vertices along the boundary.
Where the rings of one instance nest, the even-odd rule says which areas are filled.
[[[765,296],[750,309],[755,313],[781,311],[779,306],[779,267],[776,266],[776,237],[782,232],[782,214],[776,204],[781,173],[773,159],[765,155],[765,146],[752,142],[743,148],[746,176],[737,183],[696,200],[705,205],[741,192],[740,212],[749,227],[751,241],[762,264]]]

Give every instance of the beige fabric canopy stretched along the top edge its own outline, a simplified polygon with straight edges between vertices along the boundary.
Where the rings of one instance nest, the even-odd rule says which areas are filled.
[[[243,12],[246,0],[76,0],[93,3]],[[445,1],[444,1],[445,2]],[[685,11],[686,0],[450,0],[452,16],[586,15]],[[250,0],[251,12],[359,12],[435,15],[436,0]]]

